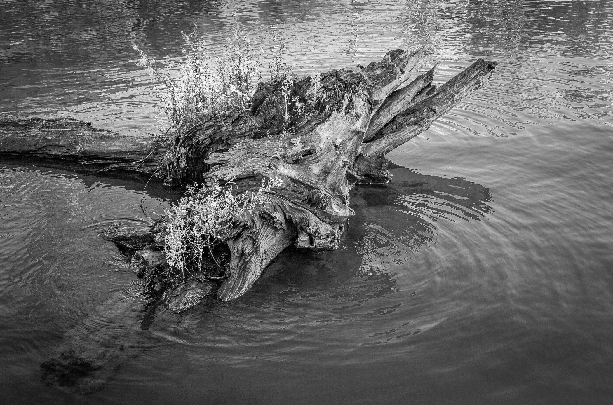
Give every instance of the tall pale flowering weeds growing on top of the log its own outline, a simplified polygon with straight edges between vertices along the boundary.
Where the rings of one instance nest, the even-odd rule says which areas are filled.
[[[256,51],[243,31],[237,14],[232,13],[232,36],[226,38],[223,55],[208,51],[204,34],[194,24],[191,32],[181,32],[185,58],[176,62],[166,56],[162,61],[140,55],[139,64],[156,79],[156,90],[171,132],[188,131],[212,113],[240,112],[251,107],[251,97],[262,80],[259,72],[263,51]],[[176,72],[178,72],[178,77]]]

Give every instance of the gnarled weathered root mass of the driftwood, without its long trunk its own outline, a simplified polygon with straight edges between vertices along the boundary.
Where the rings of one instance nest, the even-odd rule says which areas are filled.
[[[300,116],[292,109],[289,123],[282,122],[283,87],[278,80],[260,87],[253,116],[229,126],[216,126],[213,118],[192,129],[184,141],[192,147],[181,149],[173,162],[177,172],[187,176],[181,180],[234,180],[239,191],[254,189],[262,178],[283,180],[253,216],[237,221],[235,237],[228,243],[230,276],[218,292],[221,300],[245,293],[270,260],[292,243],[316,251],[338,248],[343,224],[354,214],[349,208],[351,187],[389,181],[380,158],[428,129],[485,83],[496,66],[479,59],[438,91],[433,90],[431,70],[409,82],[408,90],[398,90],[424,58],[423,50],[390,51],[382,62],[322,75],[316,91],[308,78],[297,79],[292,98],[314,105],[315,111]],[[376,131],[369,132],[371,123]],[[240,140],[229,137],[234,144],[226,146],[227,151],[209,148],[235,127]],[[273,134],[265,135],[270,128]],[[210,165],[206,173],[196,168],[203,161]]]

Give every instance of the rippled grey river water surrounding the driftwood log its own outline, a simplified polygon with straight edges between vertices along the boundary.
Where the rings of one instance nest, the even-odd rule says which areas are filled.
[[[40,362],[135,277],[112,226],[176,194],[141,178],[0,160],[6,404],[605,404],[613,398],[613,2],[2,0],[0,112],[157,131],[132,45],[219,49],[236,11],[300,74],[428,45],[437,83],[484,88],[387,156],[334,252],[289,249],[231,303],[159,309],[147,350],[89,396]],[[426,68],[426,67],[425,67]],[[425,70],[425,69],[424,69]],[[145,179],[146,181],[146,179]]]

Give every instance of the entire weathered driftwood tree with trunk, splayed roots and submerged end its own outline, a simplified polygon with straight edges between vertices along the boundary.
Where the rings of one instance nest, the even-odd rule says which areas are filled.
[[[163,256],[148,253],[160,250],[161,224],[143,235],[107,235],[132,257],[151,294],[159,294],[174,311],[215,293],[228,301],[248,291],[291,244],[313,251],[338,248],[346,220],[354,214],[349,208],[354,184],[388,183],[390,173],[381,158],[428,129],[489,80],[496,67],[479,59],[437,89],[432,84],[436,66],[411,78],[426,56],[423,48],[392,50],[381,62],[331,70],[317,83],[311,77],[295,78],[289,94],[283,77],[260,83],[251,112],[211,115],[167,143],[101,131],[73,119],[0,118],[0,153],[137,170],[170,184],[233,181],[236,192],[256,190],[264,178],[280,178],[280,187],[266,192],[263,203],[233,223],[223,246],[228,257],[223,282],[165,285],[156,276],[156,269],[166,265]],[[110,308],[135,314],[126,330],[140,333],[134,325],[143,313],[131,312],[131,305]],[[104,309],[97,313],[104,316]],[[107,347],[103,330],[100,337],[88,327],[95,324],[85,320],[67,335],[45,360],[45,380],[62,382],[70,370],[80,372],[80,365],[101,376],[101,370],[123,361],[123,354]],[[99,344],[89,350],[83,346],[88,339]],[[67,384],[78,385],[70,379]]]

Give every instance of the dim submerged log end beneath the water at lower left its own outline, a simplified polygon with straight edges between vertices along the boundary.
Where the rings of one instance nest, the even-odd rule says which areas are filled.
[[[113,295],[45,357],[43,382],[73,387],[81,394],[101,390],[129,358],[146,347],[148,303],[138,293]]]

